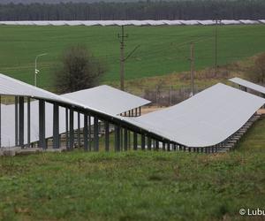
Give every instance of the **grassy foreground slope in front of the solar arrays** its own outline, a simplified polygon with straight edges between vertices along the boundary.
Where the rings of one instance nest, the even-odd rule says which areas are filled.
[[[218,155],[126,152],[0,158],[1,220],[245,220],[264,208],[265,118]]]

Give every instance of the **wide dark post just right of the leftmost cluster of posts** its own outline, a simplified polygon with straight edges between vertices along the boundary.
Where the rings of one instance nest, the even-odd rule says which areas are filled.
[[[45,101],[39,100],[39,147],[46,149],[45,141]]]

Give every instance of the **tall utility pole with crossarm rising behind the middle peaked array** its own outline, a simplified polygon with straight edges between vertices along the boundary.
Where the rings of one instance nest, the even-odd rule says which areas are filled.
[[[124,26],[122,26],[122,33],[117,34],[117,37],[120,39],[120,89],[125,90],[125,38],[128,34],[125,35]]]

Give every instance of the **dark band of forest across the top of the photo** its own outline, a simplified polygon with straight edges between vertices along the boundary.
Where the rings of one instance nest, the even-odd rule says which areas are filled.
[[[264,0],[0,4],[0,20],[265,19]]]

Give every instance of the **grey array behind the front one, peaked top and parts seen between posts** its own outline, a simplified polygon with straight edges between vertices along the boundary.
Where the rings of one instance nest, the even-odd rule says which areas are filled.
[[[3,91],[3,90],[2,90]],[[108,110],[110,114],[117,115],[127,110],[132,110],[140,106],[150,103],[148,100],[140,98],[135,95],[128,94],[124,91],[120,91],[110,86],[100,86],[95,88],[89,88],[78,92],[73,92],[65,95],[61,95],[71,101],[82,103],[84,105],[93,107],[96,110]],[[25,105],[24,118],[27,122],[27,103]],[[53,104],[45,103],[45,118],[46,138],[53,136]],[[4,147],[12,147],[15,145],[15,106],[2,105],[2,145]],[[39,140],[39,102],[31,102],[31,142]],[[59,108],[59,133],[66,132],[65,126],[65,108]],[[93,118],[91,119],[91,125],[94,124]],[[74,129],[78,129],[78,113],[74,113]],[[80,115],[80,127],[84,127],[84,117]],[[25,125],[25,131],[27,131],[27,124]],[[24,134],[24,141],[27,141],[27,133]]]

